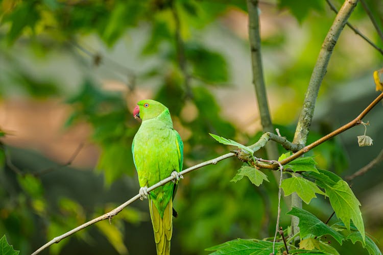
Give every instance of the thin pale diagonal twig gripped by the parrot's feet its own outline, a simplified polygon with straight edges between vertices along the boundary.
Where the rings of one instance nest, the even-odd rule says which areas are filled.
[[[217,157],[217,158],[215,158],[215,159],[208,160],[208,161],[202,162],[202,163],[200,163],[200,164],[198,164],[198,165],[189,167],[189,168],[187,168],[187,169],[181,171],[180,174],[184,175],[184,174],[186,174],[186,173],[188,173],[188,172],[191,172],[191,171],[196,170],[196,169],[198,169],[198,168],[201,168],[201,167],[203,167],[203,166],[207,166],[207,165],[211,165],[211,164],[212,164],[212,165],[215,165],[215,164],[217,164],[219,161],[222,161],[222,160],[227,159],[227,158],[231,158],[231,157],[233,157],[233,156],[235,156],[235,154],[233,154],[233,153],[230,152],[230,153],[228,153],[228,154],[222,155],[222,156]],[[149,187],[149,188],[148,188],[148,192],[150,192],[150,191],[152,191],[152,190],[154,190],[154,189],[156,189],[156,188],[158,188],[158,187],[160,187],[160,186],[162,186],[162,185],[164,185],[164,184],[166,184],[166,183],[169,183],[169,182],[171,182],[171,181],[174,180],[174,179],[175,179],[174,176],[167,177],[166,179],[161,180],[160,182],[156,183],[155,185]],[[88,222],[86,222],[86,223],[84,223],[84,224],[82,224],[82,225],[80,225],[80,226],[74,228],[73,230],[70,230],[70,231],[66,232],[65,234],[63,234],[63,235],[61,235],[61,236],[55,237],[55,238],[52,239],[51,241],[47,242],[46,244],[44,244],[43,246],[41,246],[40,248],[38,248],[35,252],[32,253],[32,255],[35,255],[35,254],[40,253],[41,251],[43,251],[43,250],[46,249],[47,247],[51,246],[52,244],[60,242],[60,241],[63,240],[64,238],[66,238],[66,237],[68,237],[68,236],[70,236],[70,235],[73,235],[74,233],[76,233],[76,232],[82,230],[83,228],[85,228],[85,227],[87,227],[87,226],[90,226],[90,225],[92,225],[92,224],[94,224],[94,223],[96,223],[96,222],[99,222],[99,221],[101,221],[101,220],[106,220],[106,219],[110,219],[110,218],[112,218],[113,216],[115,216],[115,215],[117,215],[119,212],[121,212],[125,207],[127,207],[128,205],[130,205],[132,202],[134,202],[135,200],[137,200],[137,199],[139,199],[139,198],[140,198],[140,195],[137,194],[137,195],[135,195],[134,197],[132,197],[131,199],[129,199],[128,201],[126,201],[125,203],[123,203],[121,206],[119,206],[119,207],[113,209],[112,211],[110,211],[110,212],[108,212],[108,213],[106,213],[106,214],[104,214],[104,215],[101,215],[101,216],[99,216],[99,217],[97,217],[97,218],[94,218],[94,219],[92,219],[92,220],[90,220],[90,221],[88,221]]]

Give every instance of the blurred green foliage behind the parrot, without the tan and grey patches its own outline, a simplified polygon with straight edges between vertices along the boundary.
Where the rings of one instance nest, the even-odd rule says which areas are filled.
[[[379,1],[366,2],[372,7],[379,6]],[[340,7],[341,3],[340,0],[334,1],[337,7]],[[266,6],[261,5],[260,9],[268,8]],[[272,65],[266,64],[266,68],[270,66],[270,70],[266,71],[266,79],[268,84],[273,85],[272,88],[281,90],[282,94],[287,91],[288,96],[283,97],[279,108],[275,109],[275,119],[282,123],[278,125],[281,134],[292,140],[295,127],[291,123],[295,121],[297,110],[301,107],[310,72],[334,14],[326,8],[324,1],[317,0],[279,0],[271,6],[273,10],[282,13],[288,10],[299,22],[299,28],[307,32],[306,38],[297,43],[295,38],[292,38],[295,35],[281,28],[263,38],[262,45],[266,54],[283,55],[283,58],[276,57]],[[104,177],[105,187],[98,186],[95,188],[97,190],[106,192],[108,189],[113,189],[115,187],[113,185],[117,185],[118,182],[132,185],[133,182],[128,182],[127,179],[136,182],[131,142],[139,123],[133,120],[131,109],[128,109],[128,105],[135,103],[129,100],[134,99],[120,92],[105,90],[97,75],[92,74],[92,69],[89,71],[89,65],[103,65],[106,59],[100,55],[98,60],[95,56],[91,56],[90,61],[84,60],[86,56],[78,53],[74,45],[78,42],[81,45],[83,38],[88,36],[97,35],[104,45],[113,48],[130,37],[132,30],[138,28],[147,31],[148,36],[140,45],[137,54],[144,61],[151,58],[156,58],[157,61],[144,70],[133,66],[140,70],[136,73],[138,77],[136,83],[154,80],[155,84],[150,88],[153,91],[153,99],[169,107],[183,138],[184,167],[227,151],[225,146],[210,138],[208,133],[238,138],[243,144],[251,144],[261,135],[261,133],[247,134],[237,123],[223,117],[222,106],[217,100],[214,89],[222,88],[224,84],[234,81],[232,75],[234,64],[222,50],[212,47],[203,39],[211,27],[216,30],[222,27],[221,21],[226,15],[232,12],[240,14],[246,12],[245,1],[2,0],[0,8],[2,55],[0,58],[6,63],[0,66],[2,71],[0,96],[7,98],[13,93],[19,93],[25,97],[38,99],[63,98],[71,108],[66,127],[88,123],[92,127],[91,142],[101,148],[97,171],[91,172],[91,175],[92,178],[97,178],[101,174]],[[383,15],[382,8],[371,9],[375,17]],[[177,21],[174,13],[180,19],[180,31],[176,31]],[[291,19],[290,14],[284,18]],[[275,14],[276,17],[278,15]],[[366,20],[366,14],[361,8],[357,8],[352,21],[364,24]],[[379,26],[382,27],[381,22]],[[176,40],[176,33],[181,36],[181,45]],[[229,34],[241,43],[246,42],[246,39],[234,32]],[[377,41],[377,36],[373,39]],[[281,52],[284,45],[296,43],[298,49],[292,47],[291,52]],[[248,50],[248,45],[243,44]],[[381,41],[377,44],[383,45]],[[179,65],[179,47],[183,48],[185,70]],[[75,91],[68,92],[66,87],[69,82],[58,81],[54,74],[44,78],[39,73],[34,73],[22,61],[22,56],[12,53],[12,49],[17,52],[20,48],[31,48],[38,59],[44,59],[52,52],[73,56],[74,62],[82,67],[80,72],[84,72]],[[381,61],[376,55],[368,53],[366,56],[369,60],[360,61],[350,54],[347,47],[337,46],[331,59],[333,66],[328,69],[321,93],[328,92],[334,83],[352,79],[353,75],[359,75]],[[188,77],[185,77],[185,71]],[[70,73],[66,75],[70,76]],[[129,77],[131,74],[123,73],[123,75]],[[190,94],[188,94],[189,88],[186,87],[187,79]],[[128,85],[127,87],[129,87],[127,93],[133,94],[134,90],[130,89],[134,88]],[[290,90],[282,90],[285,88]],[[238,109],[237,114],[241,114],[241,109]],[[310,133],[308,143],[332,129],[331,123]],[[0,131],[0,137],[5,135],[6,132]],[[61,194],[52,199],[50,194],[53,188],[49,184],[59,182],[59,177],[40,176],[36,172],[41,169],[23,164],[17,165],[21,174],[12,171],[13,167],[6,161],[7,157],[13,154],[7,154],[9,148],[3,143],[1,145],[0,234],[5,233],[10,243],[20,250],[21,254],[31,253],[53,237],[116,206],[117,202],[114,200],[112,203],[99,201],[91,189],[86,189],[88,192],[80,197],[70,195],[67,190],[71,188],[65,186],[60,190]],[[280,153],[283,152],[285,150],[281,148]],[[348,167],[344,147],[338,138],[320,145],[307,154],[307,156],[314,155],[321,168],[340,173]],[[265,157],[265,151],[257,151],[257,157]],[[175,208],[179,213],[179,218],[175,219],[176,234],[172,241],[172,250],[174,249],[175,253],[204,254],[204,248],[234,238],[265,238],[273,235],[277,215],[275,178],[270,172],[265,172],[267,176],[262,178],[267,177],[266,180],[270,182],[264,182],[259,187],[255,187],[247,178],[238,183],[230,182],[240,167],[240,162],[226,160],[185,176],[175,200]],[[69,184],[73,182],[69,176],[64,175],[62,178],[67,179]],[[85,187],[89,179],[89,176],[79,178],[78,184]],[[132,185],[129,188],[137,187]],[[132,194],[130,190],[130,193],[121,196],[128,199]],[[87,200],[95,202],[85,206],[83,203]],[[323,210],[322,198],[313,200],[318,202],[310,203],[310,208],[320,214],[318,217],[325,218],[331,214],[330,210]],[[50,253],[64,253],[65,248],[67,251],[70,250],[70,246],[75,244],[71,239],[78,240],[84,247],[97,247],[99,243],[94,241],[97,235],[102,235],[102,240],[109,242],[111,249],[116,253],[124,254],[134,250],[134,246],[146,246],[146,243],[152,240],[151,230],[143,233],[140,242],[131,243],[131,246],[127,245],[130,240],[126,238],[133,226],[137,224],[141,226],[144,224],[142,222],[149,220],[142,210],[144,209],[133,205],[114,217],[112,224],[106,221],[99,222],[90,230],[83,230],[70,239],[54,244],[50,248]],[[287,211],[287,206],[283,204],[282,216]],[[282,217],[280,224],[289,225],[289,220],[289,217]],[[352,242],[359,240],[356,236],[351,236],[349,239]],[[238,240],[242,241],[246,240]],[[228,243],[231,245],[230,242]],[[215,248],[222,247],[221,245]],[[148,252],[153,252],[154,247],[152,248]],[[99,250],[101,253],[101,247]],[[135,250],[137,251],[137,248]]]

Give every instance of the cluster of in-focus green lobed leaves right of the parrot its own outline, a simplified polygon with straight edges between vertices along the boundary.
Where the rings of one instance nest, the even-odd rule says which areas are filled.
[[[233,140],[212,135],[214,139],[226,145],[232,145],[254,154],[256,149],[249,148],[245,145],[237,143]],[[290,156],[283,154],[278,161],[286,159]],[[344,240],[350,239],[353,243],[359,241],[363,247],[367,249],[369,254],[381,254],[377,245],[365,234],[365,228],[360,211],[360,202],[355,197],[349,185],[342,180],[337,174],[316,168],[314,157],[302,157],[285,164],[284,169],[290,169],[286,173],[290,174],[290,178],[282,181],[280,188],[283,189],[284,195],[288,196],[292,193],[298,194],[300,198],[308,205],[316,194],[324,195],[329,198],[334,213],[341,220],[332,226],[328,226],[314,214],[298,208],[293,208],[287,214],[294,215],[299,218],[300,243],[299,247],[287,242],[289,252],[300,254],[339,254],[339,252],[329,245],[327,236],[331,236],[340,245]],[[254,161],[256,159],[253,159]],[[300,173],[301,175],[296,175]],[[237,182],[247,176],[251,183],[260,186],[264,180],[268,181],[266,175],[259,169],[245,164],[238,170],[238,173],[232,179]],[[352,220],[352,223],[351,223]],[[327,223],[327,222],[326,222]],[[341,227],[339,227],[341,226]],[[347,232],[347,235],[344,235]],[[322,238],[324,237],[324,238]],[[290,240],[294,241],[294,239]],[[270,254],[275,253],[272,250],[273,243],[260,240],[233,240],[224,244],[210,247],[207,250],[216,250],[212,254]],[[283,243],[276,244],[277,250],[284,248]]]

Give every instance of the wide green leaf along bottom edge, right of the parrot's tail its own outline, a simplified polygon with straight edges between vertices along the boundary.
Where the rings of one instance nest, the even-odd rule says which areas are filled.
[[[278,250],[283,243],[275,243],[275,249]],[[246,254],[270,254],[273,252],[273,242],[261,241],[256,239],[236,239],[226,243],[207,248],[205,250],[212,251],[210,254],[230,254],[230,255],[246,255]]]

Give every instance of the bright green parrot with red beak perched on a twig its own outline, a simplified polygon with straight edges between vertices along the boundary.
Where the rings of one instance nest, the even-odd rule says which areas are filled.
[[[132,153],[138,173],[139,194],[149,197],[149,211],[152,219],[157,254],[170,254],[172,238],[173,199],[177,190],[183,162],[183,143],[173,129],[169,109],[155,100],[139,101],[133,111],[134,118],[142,120],[133,139]],[[166,177],[174,176],[174,182],[167,183],[148,193],[148,187]]]

